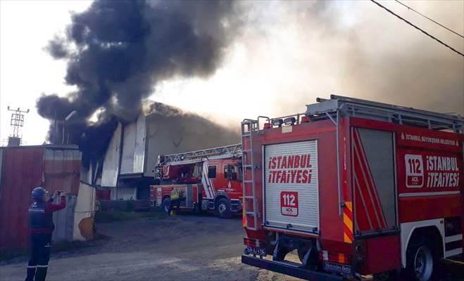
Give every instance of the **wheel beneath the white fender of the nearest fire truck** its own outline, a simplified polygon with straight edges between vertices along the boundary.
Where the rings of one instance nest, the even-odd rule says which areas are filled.
[[[408,280],[437,280],[438,254],[434,243],[426,237],[414,237],[406,250]]]

